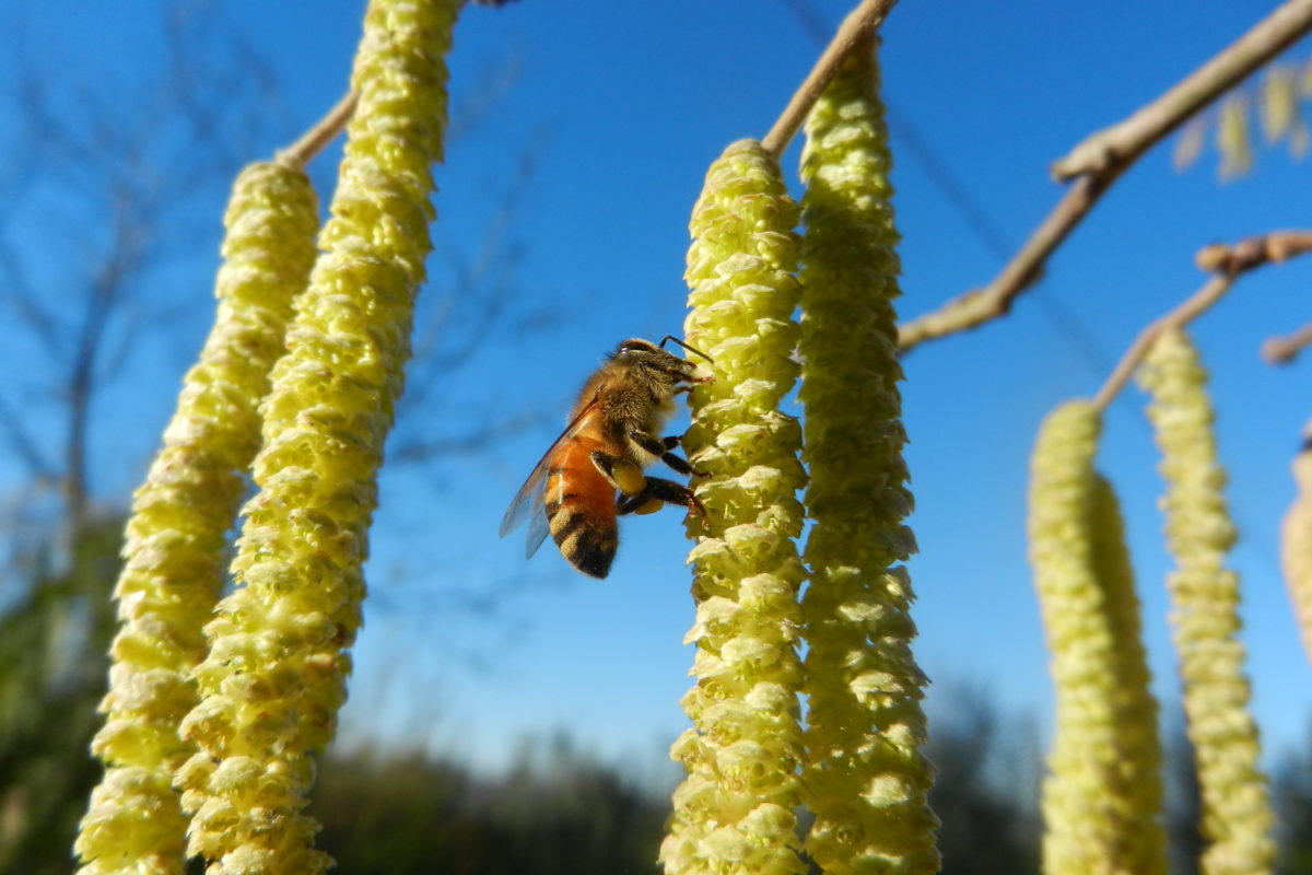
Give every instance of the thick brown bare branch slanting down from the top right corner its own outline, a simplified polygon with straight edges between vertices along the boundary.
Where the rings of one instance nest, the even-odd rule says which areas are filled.
[[[1057,245],[1126,169],[1218,93],[1236,85],[1309,29],[1312,0],[1290,0],[1162,97],[1076,147],[1056,164],[1059,178],[1075,177],[1073,185],[1021,251],[987,286],[904,323],[899,331],[901,350],[1006,315],[1013,300],[1042,275]]]

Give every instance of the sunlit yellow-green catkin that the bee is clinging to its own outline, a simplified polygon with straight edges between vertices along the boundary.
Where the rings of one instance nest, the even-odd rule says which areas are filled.
[[[670,875],[804,871],[794,846],[799,803],[796,603],[804,571],[796,491],[802,430],[779,412],[798,340],[798,206],[778,161],[756,140],[711,165],[693,210],[687,342],[715,359],[715,382],[690,399],[685,447],[706,502],[690,554],[697,685],[693,727],[670,756],[687,771],[674,791],[661,862]]]

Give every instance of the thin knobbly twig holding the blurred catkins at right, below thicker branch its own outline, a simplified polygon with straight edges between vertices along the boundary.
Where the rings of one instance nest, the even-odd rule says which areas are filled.
[[[1242,274],[1266,264],[1274,264],[1291,258],[1304,252],[1312,252],[1312,232],[1309,231],[1275,231],[1256,237],[1241,240],[1233,247],[1211,244],[1198,251],[1194,261],[1199,268],[1211,270],[1215,275],[1208,279],[1202,289],[1190,295],[1182,304],[1148,324],[1135,342],[1130,345],[1126,354],[1117,362],[1117,367],[1107,376],[1098,394],[1093,397],[1093,404],[1098,409],[1106,409],[1107,404],[1130,382],[1139,362],[1143,361],[1153,342],[1164,332],[1173,328],[1183,328],[1198,317],[1204,310],[1220,300],[1221,295],[1229,291],[1235,281]]]

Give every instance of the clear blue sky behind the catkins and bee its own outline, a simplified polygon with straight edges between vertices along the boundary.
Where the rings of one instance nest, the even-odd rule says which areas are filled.
[[[1173,84],[1271,5],[903,0],[883,51],[904,236],[903,314],[981,285],[1002,264],[908,148],[908,130],[1014,247],[1060,194],[1047,177],[1050,161]],[[341,94],[362,7],[247,1],[223,10],[268,56],[281,88],[270,135],[251,159],[294,139]],[[811,0],[810,8],[832,31],[848,4]],[[62,60],[52,77],[157,75],[157,3],[49,0],[26,7],[24,17],[37,45]],[[470,369],[405,412],[400,428],[409,434],[446,433],[453,421],[476,425],[493,408],[554,407],[563,417],[577,383],[617,340],[678,333],[686,223],[702,174],[727,143],[766,131],[819,51],[782,0],[522,0],[468,9],[455,43],[458,96],[476,93],[489,71],[517,72],[451,146],[438,173],[434,235],[443,253],[479,245],[520,156],[535,143],[509,232],[522,248],[513,311],[556,319],[544,329],[489,331]],[[131,94],[121,97],[123,112],[133,112]],[[1094,392],[1134,335],[1202,282],[1193,266],[1199,245],[1312,223],[1304,194],[1312,167],[1282,150],[1261,150],[1256,172],[1229,185],[1216,181],[1215,155],[1176,172],[1168,151],[1151,153],[1117,185],[1010,317],[905,362],[912,523],[921,546],[911,568],[917,653],[938,681],[932,708],[950,707],[934,702],[935,690],[966,681],[1048,719],[1047,655],[1023,538],[1039,420]],[[315,168],[325,186],[335,160]],[[790,173],[795,160],[794,150]],[[150,321],[138,328],[155,350],[142,356],[157,367],[125,371],[97,411],[110,433],[96,457],[105,501],[121,500],[139,479],[203,337],[220,205],[216,194],[195,218],[203,239],[172,274],[185,281],[168,293],[168,307],[186,316],[171,324],[167,342],[150,338]],[[39,237],[39,228],[24,234]],[[434,260],[429,299],[449,287],[447,265]],[[1195,329],[1214,374],[1228,495],[1242,531],[1233,561],[1245,588],[1254,711],[1271,753],[1300,736],[1312,706],[1277,559],[1278,522],[1292,497],[1288,462],[1312,416],[1312,363],[1273,369],[1257,349],[1308,320],[1309,281],[1312,262],[1266,269]],[[1073,338],[1063,315],[1093,349]],[[1130,390],[1110,412],[1101,464],[1128,518],[1152,668],[1174,716],[1161,483],[1141,404]],[[348,737],[405,737],[497,765],[526,733],[562,728],[601,756],[647,769],[681,731],[678,699],[693,657],[681,639],[693,602],[678,514],[627,521],[619,558],[601,582],[571,571],[550,546],[526,564],[518,538],[496,537],[506,501],[556,430],[543,425],[454,464],[388,467]],[[492,615],[471,606],[488,594],[497,605]]]

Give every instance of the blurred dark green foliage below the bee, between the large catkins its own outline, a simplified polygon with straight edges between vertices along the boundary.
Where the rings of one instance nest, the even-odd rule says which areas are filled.
[[[655,872],[668,792],[552,743],[500,778],[421,754],[329,757],[311,813],[341,875]]]

